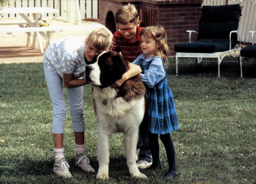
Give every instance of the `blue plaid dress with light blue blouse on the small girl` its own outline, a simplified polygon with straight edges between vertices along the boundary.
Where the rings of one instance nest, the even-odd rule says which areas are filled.
[[[167,85],[164,60],[159,57],[137,57],[133,64],[141,67],[142,82],[147,88],[148,127],[151,133],[166,134],[178,129],[177,113],[172,91]]]

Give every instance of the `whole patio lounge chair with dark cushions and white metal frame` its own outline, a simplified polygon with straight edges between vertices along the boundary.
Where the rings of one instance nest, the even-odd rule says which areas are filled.
[[[228,62],[239,63],[236,50],[241,49],[241,41],[237,34],[240,16],[239,4],[203,6],[199,31],[187,31],[190,42],[174,46],[174,51],[177,52],[176,75],[178,75],[180,58],[196,58],[197,64],[200,62],[218,62],[218,77],[220,77],[219,65],[225,56],[230,55],[235,58],[235,61]],[[198,33],[197,41],[191,42],[191,33]],[[237,38],[239,38],[239,44],[237,44]],[[203,58],[218,58],[218,61],[207,61]]]

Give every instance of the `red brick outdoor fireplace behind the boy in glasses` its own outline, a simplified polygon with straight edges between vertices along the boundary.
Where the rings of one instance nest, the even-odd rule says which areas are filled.
[[[186,30],[198,31],[203,0],[99,0],[98,17],[101,24],[115,32],[115,13],[121,6],[135,5],[140,15],[140,27],[162,25],[167,34],[169,55],[175,55],[174,45],[188,42]],[[197,40],[192,34],[191,41]]]

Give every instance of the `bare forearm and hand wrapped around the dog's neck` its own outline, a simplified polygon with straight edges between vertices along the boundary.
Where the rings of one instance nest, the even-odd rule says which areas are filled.
[[[127,79],[132,78],[132,77],[134,77],[137,74],[140,74],[142,72],[139,65],[135,65],[135,64],[132,64],[132,63],[128,63],[128,64],[129,64],[129,70],[122,75],[122,79],[115,81],[115,83],[113,83],[111,85],[111,87],[119,87]]]

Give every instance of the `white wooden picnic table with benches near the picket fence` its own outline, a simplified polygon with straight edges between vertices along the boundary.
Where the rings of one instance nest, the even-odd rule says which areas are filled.
[[[39,16],[42,13],[58,13],[57,9],[49,7],[19,7],[19,8],[4,8],[0,9],[0,14],[19,14],[25,21],[0,21],[1,25],[18,25],[15,28],[3,28],[0,27],[0,33],[12,34],[15,32],[27,33],[27,46],[30,44],[31,49],[35,49],[36,38],[40,52],[44,53],[43,44],[40,35],[46,40],[46,48],[51,44],[51,35],[55,31],[63,31],[62,27],[38,27]],[[28,17],[30,15],[30,17]],[[32,16],[31,16],[32,15]],[[31,19],[32,17],[32,19]],[[33,39],[31,41],[31,33],[33,32]]]

